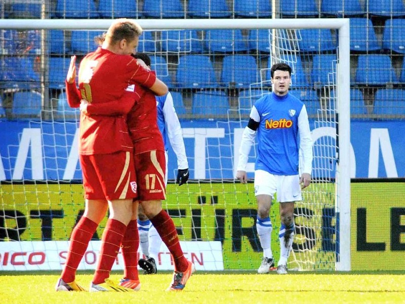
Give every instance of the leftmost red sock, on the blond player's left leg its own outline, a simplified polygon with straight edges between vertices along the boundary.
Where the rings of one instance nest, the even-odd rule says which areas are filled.
[[[66,264],[61,275],[62,280],[66,283],[74,281],[77,267],[86,252],[87,246],[89,246],[90,240],[96,232],[97,226],[97,223],[84,216],[82,216],[74,226],[70,236]]]

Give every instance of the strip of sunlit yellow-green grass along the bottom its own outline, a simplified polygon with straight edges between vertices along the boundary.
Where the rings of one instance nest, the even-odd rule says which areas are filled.
[[[170,274],[141,275],[141,291],[55,292],[56,274],[2,274],[2,303],[403,303],[405,276],[397,274],[203,274],[181,292],[167,292]],[[119,275],[111,279],[118,281]],[[92,275],[79,274],[88,287]]]

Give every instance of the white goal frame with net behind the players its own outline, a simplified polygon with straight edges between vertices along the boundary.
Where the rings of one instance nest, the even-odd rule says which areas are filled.
[[[0,269],[59,270],[70,233],[84,212],[79,112],[67,105],[64,79],[70,56],[80,59],[94,50],[94,36],[111,20],[8,21],[0,23],[3,120],[18,123],[16,141],[0,150]],[[348,21],[138,21],[145,29],[138,52],[151,57],[152,69],[168,84],[182,124],[190,181],[181,187],[173,182],[177,162],[169,150],[163,206],[197,269],[254,270],[260,265],[256,147],[249,158],[248,184],[234,180],[235,168],[250,108],[271,92],[270,66],[287,62],[293,68],[290,91],[307,107],[314,141],[313,183],[295,206],[288,267],[349,270]],[[16,39],[30,46],[28,51],[17,52]],[[277,204],[270,217],[278,260]],[[105,221],[79,269],[94,268]],[[164,246],[158,263],[160,269],[171,268]],[[119,257],[113,269],[122,265]]]

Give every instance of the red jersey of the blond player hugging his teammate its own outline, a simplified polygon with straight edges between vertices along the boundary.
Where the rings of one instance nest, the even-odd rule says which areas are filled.
[[[67,86],[67,99],[72,107],[80,105],[84,98],[89,103],[106,103],[123,96],[129,84],[140,84],[150,88],[154,73],[141,67],[129,55],[118,55],[98,48],[80,62],[79,89]],[[79,154],[110,154],[119,150],[132,150],[127,133],[125,116],[86,116],[80,114]]]

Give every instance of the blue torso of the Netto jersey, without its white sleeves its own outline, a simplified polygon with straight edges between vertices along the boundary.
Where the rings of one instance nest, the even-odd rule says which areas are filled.
[[[259,117],[252,118],[260,122],[255,170],[275,175],[299,173],[298,125],[303,106],[304,103],[290,93],[285,96],[267,94],[255,102]]]

